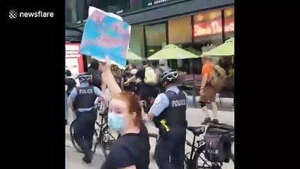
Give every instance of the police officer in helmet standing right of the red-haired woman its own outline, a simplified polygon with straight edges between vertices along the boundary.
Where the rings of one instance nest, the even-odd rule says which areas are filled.
[[[161,75],[165,93],[158,94],[148,114],[159,129],[154,158],[160,169],[184,168],[187,95],[175,85],[177,77],[176,70]]]

